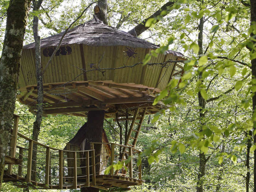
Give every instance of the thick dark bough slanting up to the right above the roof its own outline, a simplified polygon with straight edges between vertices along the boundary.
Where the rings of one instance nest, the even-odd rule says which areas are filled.
[[[157,10],[156,12],[154,12],[154,14],[152,14],[151,16],[149,16],[147,19],[144,19],[139,25],[137,25],[136,27],[134,27],[132,30],[129,30],[128,33],[133,35],[134,37],[138,37],[140,34],[142,34],[144,31],[146,31],[149,27],[146,27],[145,24],[147,22],[148,19],[151,18],[155,18],[158,15],[161,14],[162,11],[167,11],[167,13],[169,13],[170,11],[168,11],[168,7],[173,6],[173,4],[176,1],[168,1],[166,4],[164,4],[159,10]],[[159,20],[157,20],[158,22]]]

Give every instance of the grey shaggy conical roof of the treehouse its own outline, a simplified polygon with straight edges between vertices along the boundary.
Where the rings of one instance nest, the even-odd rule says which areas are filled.
[[[64,34],[52,35],[41,39],[41,47],[57,46]],[[68,33],[63,38],[61,45],[69,44],[84,44],[89,46],[129,46],[134,48],[150,48],[157,49],[159,46],[152,44],[143,39],[134,37],[133,35],[103,24],[102,21],[91,19],[84,24],[78,25],[73,29],[68,30]],[[35,47],[35,43],[25,45],[24,49]],[[178,57],[184,57],[183,54],[168,50],[167,53]]]

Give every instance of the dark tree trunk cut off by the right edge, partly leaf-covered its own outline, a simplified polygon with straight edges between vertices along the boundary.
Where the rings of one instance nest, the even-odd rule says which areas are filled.
[[[251,26],[256,25],[256,0],[250,0],[251,3]],[[251,34],[253,36],[255,34]],[[252,41],[253,44],[256,44],[256,42]],[[255,52],[255,50],[252,50],[252,52]],[[252,64],[252,79],[256,79],[256,59],[251,60]],[[252,116],[255,115],[255,106],[256,106],[256,93],[252,96]],[[255,118],[255,117],[254,117]],[[253,122],[253,130],[256,129],[256,122]],[[256,135],[253,136],[253,142],[256,144]],[[256,150],[254,151],[254,168],[253,168],[253,183],[254,183],[254,189],[253,191],[256,192]]]

